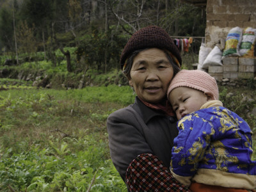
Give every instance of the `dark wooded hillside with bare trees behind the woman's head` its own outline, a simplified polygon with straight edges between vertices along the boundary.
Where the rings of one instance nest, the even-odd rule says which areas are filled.
[[[51,74],[56,67],[78,76],[107,74],[119,70],[122,49],[138,29],[157,25],[172,36],[204,36],[205,22],[204,9],[178,0],[5,0],[0,68],[40,65]],[[198,52],[200,43],[195,39],[190,52]]]

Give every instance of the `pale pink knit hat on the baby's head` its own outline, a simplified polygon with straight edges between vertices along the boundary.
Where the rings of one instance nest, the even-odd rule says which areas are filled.
[[[202,92],[212,93],[215,100],[219,99],[218,85],[214,77],[202,70],[180,70],[168,88],[167,97],[169,99],[170,92],[179,86],[187,86]]]

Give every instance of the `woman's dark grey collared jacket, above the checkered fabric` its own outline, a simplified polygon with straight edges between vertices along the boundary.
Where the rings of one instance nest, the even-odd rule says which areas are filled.
[[[140,154],[154,154],[170,166],[176,124],[172,116],[148,108],[138,97],[134,104],[109,115],[110,155],[124,181],[129,164]]]

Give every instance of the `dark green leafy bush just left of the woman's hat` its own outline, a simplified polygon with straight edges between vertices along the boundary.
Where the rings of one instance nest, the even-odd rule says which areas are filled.
[[[94,29],[92,35],[86,36],[77,47],[77,63],[83,67],[84,72],[89,68],[105,72],[108,68],[119,68],[120,52],[126,42],[127,36],[116,31],[115,26],[109,27],[107,33]],[[108,65],[103,65],[105,61]]]

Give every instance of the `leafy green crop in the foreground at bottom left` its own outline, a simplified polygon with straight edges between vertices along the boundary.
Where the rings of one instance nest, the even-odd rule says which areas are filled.
[[[67,145],[65,145],[67,147]],[[0,160],[0,190],[19,191],[125,191],[125,185],[110,160],[99,159],[102,149],[61,156],[49,148],[31,148],[28,152],[12,154],[7,150]],[[96,156],[94,156],[94,154]]]

